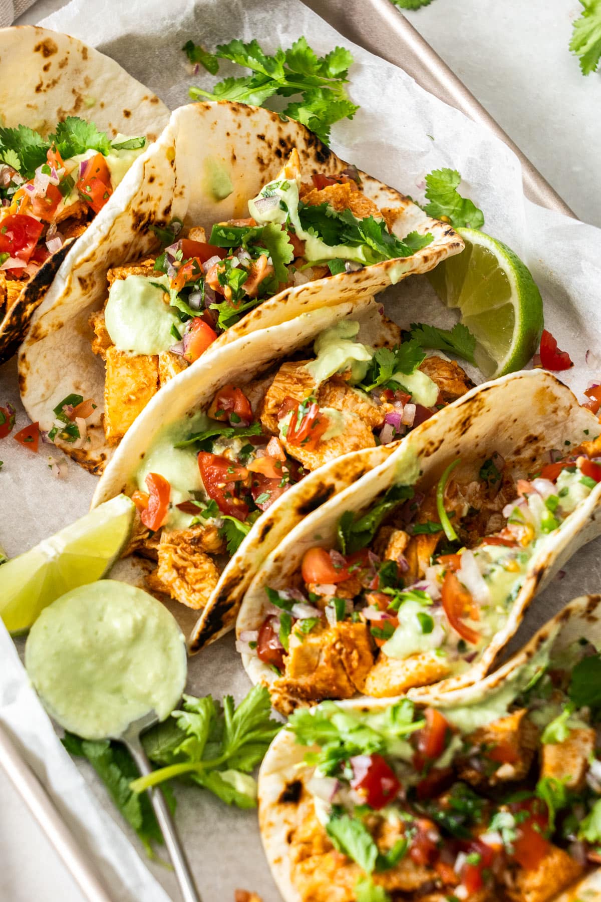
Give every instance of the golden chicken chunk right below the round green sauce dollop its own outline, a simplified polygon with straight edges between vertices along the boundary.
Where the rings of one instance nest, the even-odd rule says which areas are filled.
[[[106,349],[105,436],[116,444],[159,391],[159,357]]]

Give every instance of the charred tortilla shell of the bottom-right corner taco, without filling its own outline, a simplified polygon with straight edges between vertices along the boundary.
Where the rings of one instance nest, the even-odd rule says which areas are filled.
[[[552,648],[555,654],[583,636],[597,648],[601,648],[601,595],[586,595],[570,602],[504,667],[477,685],[457,689],[443,696],[436,693],[423,695],[417,700],[418,704],[433,705],[442,712],[445,708],[478,704],[506,687],[508,682],[516,684],[517,694],[520,673],[527,674],[527,678],[532,676],[527,667],[542,647]],[[407,695],[413,696],[413,693],[410,691]],[[338,704],[351,708],[364,706],[364,703],[355,700]],[[369,707],[385,708],[387,704],[391,704],[390,699],[372,699]],[[311,796],[304,789],[304,784],[312,773],[312,769],[307,768],[303,762],[306,751],[304,746],[296,743],[293,733],[282,730],[271,743],[259,774],[261,840],[271,873],[286,902],[300,902],[300,894],[291,879],[288,836],[290,831],[304,823],[312,808]],[[593,902],[600,894],[601,869],[580,880],[554,902]]]

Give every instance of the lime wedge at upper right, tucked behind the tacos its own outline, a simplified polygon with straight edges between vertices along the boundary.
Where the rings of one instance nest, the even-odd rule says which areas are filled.
[[[458,228],[465,251],[429,278],[447,307],[476,336],[475,358],[487,379],[521,370],[542,334],[542,298],[530,270],[506,244],[477,229]]]

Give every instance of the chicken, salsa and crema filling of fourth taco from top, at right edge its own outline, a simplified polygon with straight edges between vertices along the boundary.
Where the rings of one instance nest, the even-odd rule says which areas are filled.
[[[290,589],[267,590],[256,645],[241,649],[278,669],[273,703],[399,695],[468,670],[601,481],[600,457],[597,438],[516,482],[497,455],[456,458],[429,486],[416,464],[367,511],[344,513],[337,548],[309,548]]]

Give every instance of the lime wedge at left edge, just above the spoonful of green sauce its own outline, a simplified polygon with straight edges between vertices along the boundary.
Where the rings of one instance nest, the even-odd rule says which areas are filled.
[[[0,617],[6,629],[29,630],[60,595],[104,576],[130,538],[134,510],[127,495],[117,495],[3,564]]]

